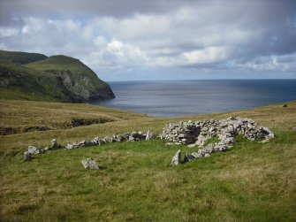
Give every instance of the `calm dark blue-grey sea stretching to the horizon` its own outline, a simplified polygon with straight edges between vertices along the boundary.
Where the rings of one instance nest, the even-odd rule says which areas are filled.
[[[122,81],[110,87],[116,99],[95,104],[165,117],[296,100],[296,80]]]

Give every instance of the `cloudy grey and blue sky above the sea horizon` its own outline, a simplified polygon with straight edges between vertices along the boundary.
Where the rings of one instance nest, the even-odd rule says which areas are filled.
[[[0,0],[0,49],[108,81],[296,79],[296,0]]]

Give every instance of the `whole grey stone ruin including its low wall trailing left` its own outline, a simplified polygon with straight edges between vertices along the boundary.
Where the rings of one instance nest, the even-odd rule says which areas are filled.
[[[193,153],[186,153],[181,160],[181,151],[175,154],[171,160],[171,166],[183,164],[199,157],[210,157],[210,154],[215,152],[224,152],[230,149],[237,135],[243,135],[248,140],[254,141],[261,139],[261,142],[269,142],[275,137],[269,128],[258,126],[252,119],[247,118],[228,118],[222,120],[209,119],[202,121],[179,122],[177,124],[168,124],[163,128],[163,134],[159,137],[169,142],[166,145],[181,145],[186,144],[189,148],[198,147],[199,149]],[[110,142],[139,142],[143,140],[156,139],[156,134],[148,131],[146,134],[142,132],[125,133],[121,135],[105,136],[102,139],[95,137],[91,141],[81,141],[68,143],[62,146],[57,143],[56,139],[51,141],[51,145],[44,149],[38,149],[34,146],[28,146],[24,153],[24,161],[30,161],[35,154],[42,154],[48,150],[54,149],[78,149],[89,146],[100,146]],[[209,143],[210,138],[217,138],[218,142]],[[85,163],[92,163],[92,159],[88,159]],[[82,163],[83,164],[83,163]],[[84,165],[84,164],[83,164]],[[86,167],[92,169],[93,166]]]

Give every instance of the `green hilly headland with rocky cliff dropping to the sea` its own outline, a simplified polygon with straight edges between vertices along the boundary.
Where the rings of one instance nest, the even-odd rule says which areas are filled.
[[[108,83],[65,56],[0,50],[0,98],[83,103],[114,98]]]

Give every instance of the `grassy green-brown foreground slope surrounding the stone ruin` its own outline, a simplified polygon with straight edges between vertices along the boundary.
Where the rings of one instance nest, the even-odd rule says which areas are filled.
[[[34,109],[30,111],[30,107]],[[65,103],[1,101],[1,111],[11,112],[11,117],[1,119],[7,125],[26,125],[26,119],[39,116],[57,125],[57,130],[0,137],[3,220],[292,221],[296,218],[296,133],[291,130],[296,126],[296,102],[288,103],[287,108],[277,104],[177,119]],[[64,121],[58,116],[65,112],[72,113],[72,117],[82,113],[89,118],[116,116],[118,121],[63,129],[57,122]],[[132,130],[151,129],[160,133],[168,122],[229,116],[252,118],[262,126],[269,126],[277,137],[264,144],[239,138],[228,152],[174,168],[167,165],[179,147],[165,147],[162,141],[57,150],[37,156],[30,163],[19,162],[28,144],[45,146],[52,138],[65,144]],[[19,123],[13,119],[19,119]],[[181,149],[183,154],[194,150],[183,146]],[[105,169],[85,171],[80,164],[84,157],[95,158]]]

